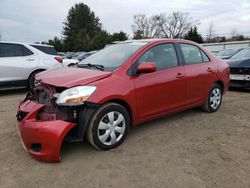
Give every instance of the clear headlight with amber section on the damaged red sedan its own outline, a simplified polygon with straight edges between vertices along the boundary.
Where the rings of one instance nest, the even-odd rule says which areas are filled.
[[[57,98],[56,104],[63,106],[81,105],[95,91],[95,86],[77,86],[63,91]]]

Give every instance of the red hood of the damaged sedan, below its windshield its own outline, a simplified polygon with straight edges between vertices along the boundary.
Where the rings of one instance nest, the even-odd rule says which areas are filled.
[[[60,68],[43,71],[36,75],[36,80],[57,87],[70,88],[104,79],[111,74],[111,72],[84,68]]]

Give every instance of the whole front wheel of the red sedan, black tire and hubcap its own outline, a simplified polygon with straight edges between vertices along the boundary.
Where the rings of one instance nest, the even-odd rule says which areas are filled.
[[[126,108],[116,103],[104,104],[90,120],[87,139],[97,149],[113,149],[126,138],[130,122]]]

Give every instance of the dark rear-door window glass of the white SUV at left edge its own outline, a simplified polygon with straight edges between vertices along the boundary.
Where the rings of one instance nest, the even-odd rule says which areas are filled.
[[[33,52],[21,44],[0,43],[0,57],[20,57],[32,54]]]

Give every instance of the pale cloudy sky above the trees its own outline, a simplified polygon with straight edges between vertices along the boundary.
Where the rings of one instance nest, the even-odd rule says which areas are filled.
[[[61,37],[63,22],[75,3],[87,4],[108,32],[132,37],[133,15],[181,11],[199,20],[205,36],[213,22],[218,35],[232,30],[250,36],[250,0],[0,0],[0,35],[5,41],[41,42]]]

